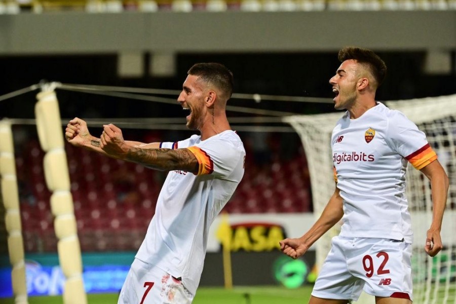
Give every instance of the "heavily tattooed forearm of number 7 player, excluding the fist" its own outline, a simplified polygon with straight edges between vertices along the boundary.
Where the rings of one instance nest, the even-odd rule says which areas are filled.
[[[163,170],[184,170],[198,172],[198,160],[188,149],[141,149],[132,148],[127,154],[127,160],[144,166]]]

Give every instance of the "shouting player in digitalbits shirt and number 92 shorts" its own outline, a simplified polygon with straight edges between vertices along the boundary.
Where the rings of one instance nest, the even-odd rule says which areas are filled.
[[[331,137],[334,194],[311,229],[281,241],[281,250],[292,258],[301,256],[342,219],[309,303],[346,304],[358,300],[364,289],[377,304],[410,304],[413,234],[405,197],[407,163],[431,183],[433,216],[424,242],[430,256],[443,246],[448,177],[426,135],[401,112],[375,101],[386,75],[383,60],[353,47],[341,49],[338,59],[342,63],[329,83],[336,94],[334,108],[347,111]]]

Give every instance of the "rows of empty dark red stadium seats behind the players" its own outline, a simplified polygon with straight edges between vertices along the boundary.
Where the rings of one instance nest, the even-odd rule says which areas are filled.
[[[69,144],[65,144],[65,150],[82,251],[139,248],[154,215],[165,173]],[[312,210],[309,173],[303,151],[298,151],[289,160],[281,160],[280,154],[280,149],[273,149],[272,165],[267,166],[257,164],[253,157],[247,158],[246,166],[250,169],[225,206],[226,212]],[[29,141],[16,157],[26,252],[57,250],[43,157],[44,152],[36,140]]]

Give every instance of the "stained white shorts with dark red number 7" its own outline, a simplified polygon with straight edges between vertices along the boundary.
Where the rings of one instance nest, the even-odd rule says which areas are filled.
[[[190,304],[194,295],[166,271],[137,258],[133,261],[118,304]]]

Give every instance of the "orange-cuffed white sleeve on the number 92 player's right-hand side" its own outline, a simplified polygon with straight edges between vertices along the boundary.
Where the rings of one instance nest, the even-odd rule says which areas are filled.
[[[417,170],[437,159],[426,134],[399,111],[394,111],[389,121],[388,136],[393,149]]]

